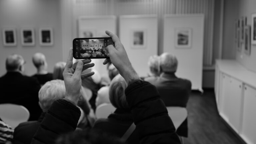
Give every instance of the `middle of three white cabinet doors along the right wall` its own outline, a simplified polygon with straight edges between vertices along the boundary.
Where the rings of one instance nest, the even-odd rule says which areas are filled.
[[[238,133],[241,119],[242,82],[234,78],[230,80],[228,119],[231,127]]]

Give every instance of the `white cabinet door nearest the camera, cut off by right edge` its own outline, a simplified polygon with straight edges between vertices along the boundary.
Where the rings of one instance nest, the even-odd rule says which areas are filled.
[[[255,144],[256,137],[256,89],[244,86],[243,118],[241,137],[248,144]]]

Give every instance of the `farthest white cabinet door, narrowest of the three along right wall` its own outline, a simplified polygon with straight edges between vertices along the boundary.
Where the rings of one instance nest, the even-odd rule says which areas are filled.
[[[221,97],[220,97],[220,115],[224,120],[228,122],[228,113],[229,113],[229,96],[230,96],[230,81],[231,77],[222,74],[221,80]]]

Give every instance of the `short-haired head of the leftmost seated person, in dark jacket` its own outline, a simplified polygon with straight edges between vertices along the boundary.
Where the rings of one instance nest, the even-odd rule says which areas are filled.
[[[5,61],[7,71],[17,71],[25,63],[23,57],[18,54],[9,55]]]

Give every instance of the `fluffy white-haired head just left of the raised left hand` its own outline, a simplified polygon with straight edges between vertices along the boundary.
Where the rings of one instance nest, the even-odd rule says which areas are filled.
[[[43,112],[47,112],[55,100],[65,98],[65,84],[63,80],[46,82],[39,90],[39,105]]]

